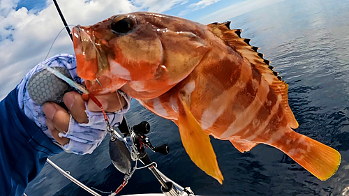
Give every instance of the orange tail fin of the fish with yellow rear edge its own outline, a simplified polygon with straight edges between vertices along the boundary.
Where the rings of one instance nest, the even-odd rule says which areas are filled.
[[[325,144],[296,133],[294,130],[285,133],[286,141],[275,145],[290,158],[316,176],[325,181],[331,177],[341,163],[341,154]],[[274,144],[272,144],[274,146]]]

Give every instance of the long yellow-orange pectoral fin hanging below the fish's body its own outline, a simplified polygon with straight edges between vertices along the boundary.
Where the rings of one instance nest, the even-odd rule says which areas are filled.
[[[222,184],[223,175],[218,167],[209,135],[204,133],[183,98],[179,99],[182,104],[179,106],[179,117],[176,123],[186,152],[195,165]]]

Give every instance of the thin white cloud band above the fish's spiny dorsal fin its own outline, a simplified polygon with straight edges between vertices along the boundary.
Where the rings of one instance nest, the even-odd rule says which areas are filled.
[[[200,18],[198,22],[201,22],[202,24],[223,22],[231,19],[232,17],[237,17],[238,15],[243,15],[244,13],[270,6],[281,1],[285,0],[247,0],[240,3],[235,3],[232,6],[228,6],[209,15],[205,15],[205,17]]]

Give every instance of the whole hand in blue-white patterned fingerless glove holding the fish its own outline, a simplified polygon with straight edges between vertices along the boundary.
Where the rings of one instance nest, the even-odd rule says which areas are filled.
[[[76,73],[74,55],[58,54],[45,60],[43,63],[50,67],[60,68],[63,72],[68,70],[68,75],[70,75],[71,79],[79,84],[82,83]],[[92,100],[84,102],[80,94],[75,92],[68,92],[64,96],[63,103],[69,109],[68,112],[52,102],[46,103],[44,109],[44,103],[49,100],[61,102],[61,93],[64,93],[62,91],[66,91],[64,90],[66,88],[54,86],[54,84],[62,85],[61,82],[50,83],[52,80],[47,80],[47,77],[51,77],[49,75],[46,75],[44,81],[42,70],[43,66],[39,63],[18,84],[17,95],[20,110],[34,121],[52,142],[58,142],[65,151],[77,154],[92,153],[107,134],[105,130],[106,123],[101,109]],[[34,75],[35,77],[33,77]],[[35,82],[29,82],[31,78],[36,78]],[[33,85],[28,86],[28,84]],[[46,85],[45,88],[43,88],[42,84]],[[34,92],[34,99],[31,97],[29,89],[31,93]],[[47,93],[47,91],[49,92]],[[56,93],[59,93],[59,95]],[[51,97],[47,98],[47,95]],[[131,97],[122,91],[117,91],[117,93],[96,96],[96,98],[103,105],[105,112],[107,112],[110,125],[118,126],[123,119],[123,115],[130,107]],[[124,105],[125,107],[121,108]],[[121,110],[119,110],[120,108]]]

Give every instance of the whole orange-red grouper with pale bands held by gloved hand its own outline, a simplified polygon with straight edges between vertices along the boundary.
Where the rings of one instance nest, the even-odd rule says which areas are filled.
[[[174,121],[191,160],[223,181],[209,135],[242,153],[257,144],[280,149],[320,180],[336,172],[338,151],[296,133],[288,84],[230,30],[157,13],[115,15],[74,27],[77,75],[92,94],[121,89]],[[117,100],[116,100],[117,101]]]

